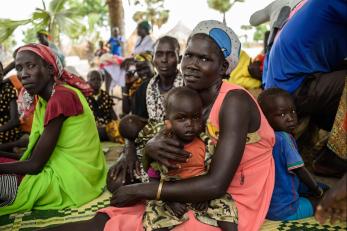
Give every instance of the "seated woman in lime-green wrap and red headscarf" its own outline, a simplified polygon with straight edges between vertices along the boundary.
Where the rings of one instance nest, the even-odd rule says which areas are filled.
[[[91,201],[102,193],[107,169],[82,94],[90,94],[90,86],[65,71],[44,45],[20,47],[15,64],[25,90],[38,102],[26,152],[20,161],[0,160],[0,216]]]

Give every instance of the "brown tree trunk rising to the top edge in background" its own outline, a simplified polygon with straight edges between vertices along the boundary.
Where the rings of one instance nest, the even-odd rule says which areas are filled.
[[[113,27],[118,27],[120,34],[124,36],[124,8],[122,0],[107,0],[110,22],[110,33]]]

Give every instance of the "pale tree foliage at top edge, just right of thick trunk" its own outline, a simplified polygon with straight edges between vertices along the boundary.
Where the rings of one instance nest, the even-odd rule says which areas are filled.
[[[146,10],[135,12],[133,15],[135,22],[148,20],[151,25],[160,28],[169,19],[170,11],[164,9],[164,0],[136,0],[134,4],[146,8]]]

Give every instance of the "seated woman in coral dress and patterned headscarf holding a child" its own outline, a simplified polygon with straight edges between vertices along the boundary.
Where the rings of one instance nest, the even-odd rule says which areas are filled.
[[[122,186],[111,199],[111,205],[118,208],[103,209],[94,219],[61,230],[143,230],[143,200],[197,203],[225,193],[236,203],[238,229],[260,229],[274,187],[274,131],[246,90],[222,80],[237,65],[240,46],[236,34],[223,23],[203,21],[189,37],[182,59],[186,84],[199,93],[207,133],[216,143],[207,174],[175,182]],[[145,154],[171,168],[177,168],[175,162],[190,158],[183,144],[163,133],[147,143]],[[125,207],[130,205],[134,206]],[[191,211],[188,216],[189,220],[174,230],[218,230],[198,222]]]

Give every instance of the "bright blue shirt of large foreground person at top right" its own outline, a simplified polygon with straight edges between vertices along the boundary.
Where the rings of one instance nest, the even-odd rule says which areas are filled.
[[[263,84],[293,93],[306,76],[337,70],[347,57],[347,1],[308,0],[279,33]]]

